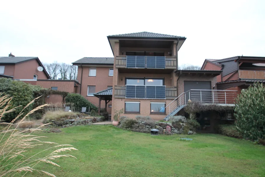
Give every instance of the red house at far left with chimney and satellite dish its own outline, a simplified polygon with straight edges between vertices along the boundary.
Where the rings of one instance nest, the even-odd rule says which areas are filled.
[[[41,66],[42,70],[38,71]],[[0,57],[0,77],[11,79],[50,79],[38,57]]]

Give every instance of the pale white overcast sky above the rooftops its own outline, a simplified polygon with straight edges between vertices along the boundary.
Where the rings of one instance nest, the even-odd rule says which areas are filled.
[[[0,56],[113,57],[108,35],[185,36],[179,63],[265,57],[265,1],[1,1]]]

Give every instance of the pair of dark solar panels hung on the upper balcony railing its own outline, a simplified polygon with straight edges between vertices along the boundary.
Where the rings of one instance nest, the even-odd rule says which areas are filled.
[[[126,56],[126,68],[166,68],[164,56]]]

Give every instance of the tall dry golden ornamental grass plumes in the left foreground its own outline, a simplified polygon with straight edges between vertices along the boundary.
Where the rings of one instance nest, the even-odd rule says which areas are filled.
[[[33,101],[28,103],[25,108],[27,108],[30,104],[34,103],[34,101],[38,98],[35,98]],[[18,114],[18,116],[15,117],[10,123],[3,122],[5,114],[13,112],[17,108],[15,107],[10,109],[11,100],[12,97],[10,97],[9,95],[4,95],[4,93],[0,93],[0,177],[24,176],[28,172],[39,172],[47,176],[56,177],[54,174],[51,174],[47,171],[35,169],[35,165],[40,162],[44,162],[60,167],[58,164],[52,162],[52,160],[59,157],[74,157],[69,154],[59,153],[77,149],[71,147],[72,145],[69,144],[58,145],[54,142],[41,141],[40,138],[44,138],[45,136],[37,136],[31,134],[35,131],[42,131],[41,128],[45,125],[48,125],[49,123],[41,125],[37,128],[23,130],[19,129],[20,124],[27,122],[26,119],[30,114],[39,109],[43,109],[43,107],[47,106],[47,104],[38,106],[27,114],[23,112],[25,110],[24,108]],[[14,124],[14,122],[17,123]],[[40,152],[32,155],[31,157],[26,157],[25,152],[27,152],[29,148],[35,148],[36,146],[40,146],[43,144],[51,144],[54,146],[49,147],[48,149],[41,150]],[[48,151],[52,152],[48,153]],[[45,152],[47,152],[46,156],[37,157],[38,155],[41,155]]]

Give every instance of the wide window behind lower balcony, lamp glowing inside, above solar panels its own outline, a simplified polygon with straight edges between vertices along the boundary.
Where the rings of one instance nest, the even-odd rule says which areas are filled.
[[[126,78],[125,85],[164,85],[164,79]]]

